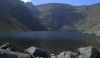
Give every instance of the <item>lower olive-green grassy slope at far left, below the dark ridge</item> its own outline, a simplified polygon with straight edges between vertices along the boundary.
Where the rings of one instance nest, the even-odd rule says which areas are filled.
[[[7,12],[0,13],[0,32],[31,31]]]

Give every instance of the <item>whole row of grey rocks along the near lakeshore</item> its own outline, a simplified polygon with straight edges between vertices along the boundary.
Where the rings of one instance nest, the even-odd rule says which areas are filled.
[[[27,53],[20,53],[12,50],[8,44],[4,44],[0,46],[0,58],[100,58],[99,49],[93,46],[78,48],[76,52],[64,51],[58,55],[51,54],[48,57],[44,50],[34,48],[35,47],[28,48]]]

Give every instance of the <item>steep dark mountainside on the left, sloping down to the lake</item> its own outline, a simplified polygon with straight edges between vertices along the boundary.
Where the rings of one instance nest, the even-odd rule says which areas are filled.
[[[0,31],[46,30],[20,0],[0,0]]]

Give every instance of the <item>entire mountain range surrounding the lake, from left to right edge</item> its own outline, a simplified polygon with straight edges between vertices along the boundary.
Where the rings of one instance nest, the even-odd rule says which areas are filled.
[[[0,0],[0,32],[100,31],[100,3],[72,6],[64,3],[33,5],[20,0]],[[98,33],[100,34],[100,33]]]

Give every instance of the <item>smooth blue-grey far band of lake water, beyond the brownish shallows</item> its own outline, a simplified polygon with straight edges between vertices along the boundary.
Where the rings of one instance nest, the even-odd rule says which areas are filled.
[[[1,32],[2,38],[26,39],[84,39],[90,37],[87,33],[78,31],[35,31],[35,32]]]

